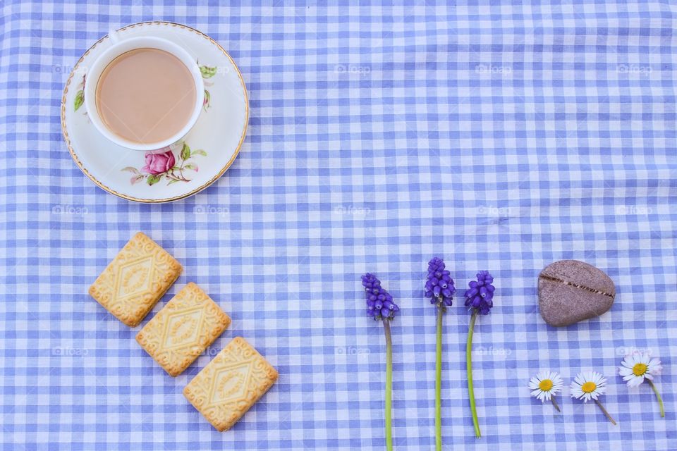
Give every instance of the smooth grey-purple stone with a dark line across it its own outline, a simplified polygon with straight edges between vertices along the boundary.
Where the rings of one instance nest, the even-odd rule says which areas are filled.
[[[555,261],[538,276],[538,308],[550,326],[570,326],[604,314],[615,297],[614,281],[583,261]]]

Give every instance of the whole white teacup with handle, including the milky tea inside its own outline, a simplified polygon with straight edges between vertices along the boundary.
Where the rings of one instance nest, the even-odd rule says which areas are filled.
[[[87,73],[85,106],[106,138],[153,151],[179,142],[202,111],[204,83],[185,49],[158,37],[117,40]],[[115,42],[117,40],[117,42]]]

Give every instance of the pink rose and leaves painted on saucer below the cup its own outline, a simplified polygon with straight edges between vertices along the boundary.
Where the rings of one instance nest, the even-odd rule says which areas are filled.
[[[134,185],[145,180],[149,186],[155,185],[164,178],[167,185],[176,182],[190,182],[183,171],[198,171],[197,164],[194,161],[188,162],[195,156],[207,156],[207,152],[202,149],[190,150],[188,144],[183,143],[181,152],[175,157],[170,147],[165,147],[165,152],[146,152],[145,166],[140,170],[133,166],[122,168],[121,171],[132,173],[129,182]]]

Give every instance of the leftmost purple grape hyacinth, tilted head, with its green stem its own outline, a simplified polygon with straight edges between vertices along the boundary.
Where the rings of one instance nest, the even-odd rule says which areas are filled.
[[[386,449],[393,449],[391,404],[393,393],[393,340],[390,335],[390,321],[394,319],[399,307],[393,297],[381,286],[381,280],[370,273],[362,276],[362,286],[367,296],[367,315],[374,321],[383,322],[386,334]]]

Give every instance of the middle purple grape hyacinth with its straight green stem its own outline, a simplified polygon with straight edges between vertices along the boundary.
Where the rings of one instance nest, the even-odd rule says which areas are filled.
[[[428,262],[428,276],[425,282],[425,297],[430,298],[430,303],[437,305],[437,348],[435,360],[435,448],[442,449],[442,415],[441,415],[441,389],[442,389],[442,314],[446,307],[451,307],[453,293],[453,279],[449,276],[444,265],[444,260],[434,257]]]

